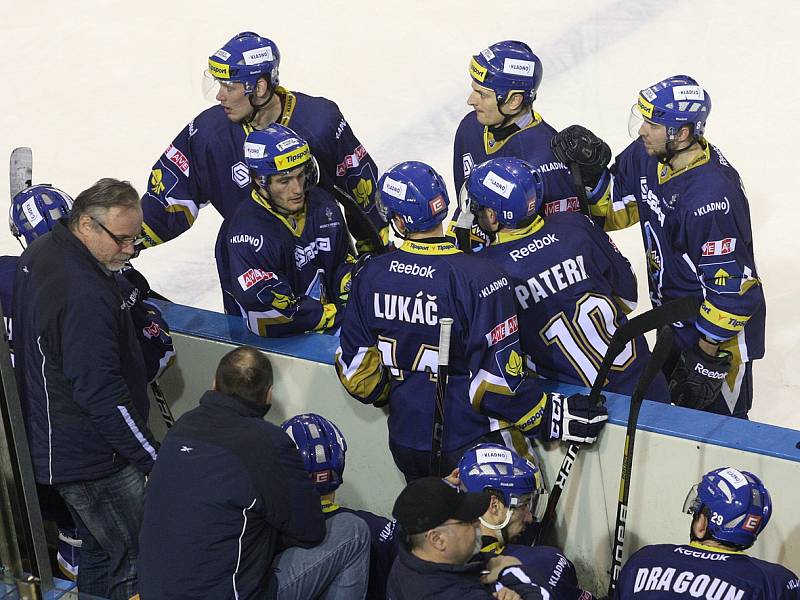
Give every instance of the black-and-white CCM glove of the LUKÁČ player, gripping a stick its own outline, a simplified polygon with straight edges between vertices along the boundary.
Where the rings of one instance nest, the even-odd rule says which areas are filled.
[[[590,402],[586,394],[566,397],[553,392],[547,409],[542,437],[548,440],[593,444],[608,421],[605,405]]]

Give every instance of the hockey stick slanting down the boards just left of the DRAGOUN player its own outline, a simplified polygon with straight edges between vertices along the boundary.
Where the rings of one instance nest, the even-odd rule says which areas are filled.
[[[622,474],[619,481],[619,502],[617,503],[617,520],[614,526],[614,546],[611,550],[611,578],[608,582],[608,597],[611,598],[614,588],[617,585],[617,578],[622,569],[622,545],[625,541],[625,521],[628,516],[628,494],[631,489],[631,472],[633,470],[633,445],[636,441],[636,422],[639,420],[639,409],[642,407],[642,400],[647,391],[647,387],[661,370],[664,362],[672,349],[674,337],[672,328],[666,325],[661,328],[656,338],[656,345],[653,354],[647,361],[636,389],[631,396],[631,409],[628,414],[628,428],[625,432],[625,446],[622,455]]]

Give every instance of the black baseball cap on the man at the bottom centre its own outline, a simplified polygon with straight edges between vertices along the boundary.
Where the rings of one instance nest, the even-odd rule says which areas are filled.
[[[422,533],[448,519],[474,521],[489,508],[488,492],[461,492],[438,477],[409,483],[395,500],[392,515],[403,533]]]

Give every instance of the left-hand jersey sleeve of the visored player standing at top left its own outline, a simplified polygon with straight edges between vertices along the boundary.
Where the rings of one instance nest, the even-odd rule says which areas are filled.
[[[197,218],[207,204],[202,197],[204,157],[193,140],[193,123],[189,123],[167,146],[153,165],[142,196],[144,246],[149,248],[178,237]]]

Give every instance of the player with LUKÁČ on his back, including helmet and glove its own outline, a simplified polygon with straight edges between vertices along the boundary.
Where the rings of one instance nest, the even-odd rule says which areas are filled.
[[[528,377],[508,279],[444,238],[448,198],[428,165],[408,161],[380,179],[378,202],[399,250],[352,280],[336,354],[339,379],[365,404],[389,404],[389,448],[407,480],[430,473],[439,319],[454,319],[445,398],[443,468],[477,441],[526,447],[520,433],[593,442],[607,415],[587,397],[545,394]],[[513,428],[514,431],[500,431]]]

